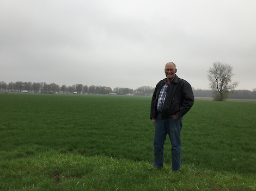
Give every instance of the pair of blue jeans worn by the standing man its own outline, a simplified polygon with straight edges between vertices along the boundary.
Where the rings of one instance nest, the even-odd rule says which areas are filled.
[[[163,167],[163,145],[166,141],[167,134],[172,144],[172,166],[173,169],[181,168],[181,139],[180,131],[182,128],[182,117],[180,119],[174,119],[169,117],[168,119],[161,120],[161,113],[155,120],[155,136],[154,136],[154,166]]]

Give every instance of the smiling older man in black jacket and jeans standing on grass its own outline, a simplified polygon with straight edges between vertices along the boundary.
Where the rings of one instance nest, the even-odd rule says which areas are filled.
[[[180,79],[173,62],[168,62],[164,68],[165,79],[155,88],[151,101],[150,119],[155,125],[153,167],[163,167],[163,145],[167,133],[172,144],[172,170],[177,173],[181,168],[181,138],[182,117],[191,109],[194,95],[191,85]]]

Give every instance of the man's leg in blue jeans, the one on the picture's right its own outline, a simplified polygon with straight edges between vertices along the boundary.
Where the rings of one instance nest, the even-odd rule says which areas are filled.
[[[169,117],[166,120],[166,129],[169,134],[170,143],[172,144],[172,165],[173,169],[181,168],[181,137],[182,118],[174,119]]]

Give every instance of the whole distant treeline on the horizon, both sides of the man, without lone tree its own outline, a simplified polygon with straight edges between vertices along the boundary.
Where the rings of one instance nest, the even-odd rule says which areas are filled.
[[[80,94],[109,94],[117,93],[117,95],[153,95],[155,87],[142,86],[138,87],[136,90],[124,87],[115,87],[113,90],[111,87],[106,86],[87,86],[82,84],[76,84],[72,86],[58,84],[46,84],[46,82],[9,82],[7,84],[4,81],[0,81],[0,91],[1,92],[23,92],[28,91],[31,93],[74,93],[78,92]],[[210,98],[212,97],[212,90],[201,90],[194,89],[194,97]],[[234,90],[229,92],[229,99],[256,99],[256,88],[253,91],[249,90]]]

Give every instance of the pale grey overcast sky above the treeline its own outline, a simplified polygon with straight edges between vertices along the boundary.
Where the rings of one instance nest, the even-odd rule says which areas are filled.
[[[154,87],[164,65],[194,88],[233,66],[256,88],[255,0],[0,1],[0,81]]]

